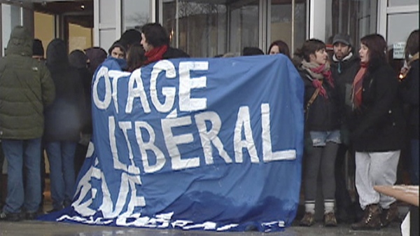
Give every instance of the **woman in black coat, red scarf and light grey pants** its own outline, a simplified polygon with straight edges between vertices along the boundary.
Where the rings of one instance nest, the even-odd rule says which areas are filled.
[[[397,179],[405,120],[398,79],[386,62],[386,41],[379,34],[360,39],[360,69],[353,81],[350,139],[356,151],[356,189],[364,216],[353,230],[379,230],[398,216],[395,198],[374,190]]]

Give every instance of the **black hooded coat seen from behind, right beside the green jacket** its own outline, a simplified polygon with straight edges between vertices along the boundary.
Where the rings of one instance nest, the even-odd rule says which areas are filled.
[[[45,111],[44,139],[78,141],[85,123],[85,97],[78,70],[70,67],[66,46],[61,39],[47,47],[47,67],[55,84],[57,96]]]

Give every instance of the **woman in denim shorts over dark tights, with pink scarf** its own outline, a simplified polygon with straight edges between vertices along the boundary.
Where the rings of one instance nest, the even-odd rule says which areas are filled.
[[[314,224],[316,183],[321,172],[324,225],[335,226],[335,156],[339,134],[337,93],[325,51],[325,43],[309,39],[295,53],[295,62],[304,81],[306,156],[304,158],[305,214],[300,225]],[[306,159],[306,160],[305,160]]]

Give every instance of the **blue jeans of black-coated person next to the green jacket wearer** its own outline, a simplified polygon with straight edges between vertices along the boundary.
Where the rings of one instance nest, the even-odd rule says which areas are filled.
[[[45,146],[50,162],[51,199],[54,209],[62,209],[63,205],[70,204],[73,200],[76,144],[73,141],[54,141]]]

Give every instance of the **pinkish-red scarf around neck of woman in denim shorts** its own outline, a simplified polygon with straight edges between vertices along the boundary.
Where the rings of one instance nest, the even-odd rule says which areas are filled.
[[[325,88],[322,86],[323,78],[326,78],[327,82],[330,84],[332,88],[334,88],[334,81],[332,79],[332,74],[330,71],[330,64],[317,64],[314,62],[307,62],[305,60],[302,61],[302,69],[306,70],[312,78],[315,78],[312,81],[312,85],[314,85],[315,88],[319,89],[319,94],[321,96],[327,98],[327,92],[325,91]]]

